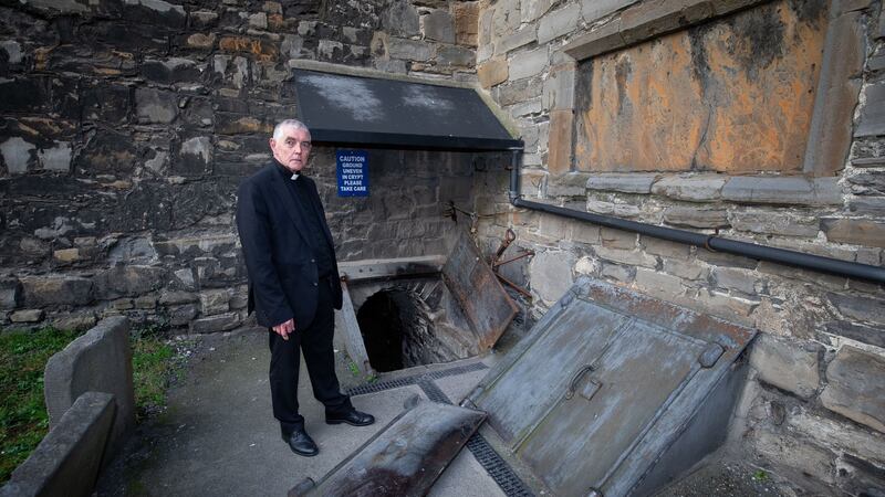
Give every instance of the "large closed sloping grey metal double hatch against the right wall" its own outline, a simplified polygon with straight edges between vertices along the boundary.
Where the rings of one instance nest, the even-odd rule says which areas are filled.
[[[627,495],[753,336],[582,278],[469,401],[558,495]]]

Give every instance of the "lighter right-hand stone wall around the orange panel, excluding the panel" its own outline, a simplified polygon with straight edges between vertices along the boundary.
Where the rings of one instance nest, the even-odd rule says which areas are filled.
[[[690,39],[693,32],[730,29],[735,9],[749,9],[741,15],[753,19],[753,10],[771,6],[798,8],[800,15],[809,13],[802,9],[829,11],[808,146],[793,172],[731,172],[725,163],[718,170],[730,173],[694,167],[675,173],[666,155],[658,170],[625,163],[612,171],[594,169],[592,160],[577,156],[576,93],[589,89],[576,76],[579,64],[595,56],[618,57],[668,33],[689,30]],[[525,141],[521,194],[527,199],[882,266],[882,11],[873,0],[499,0],[483,3],[480,11],[478,77],[519,124]],[[689,47],[687,55],[698,54]],[[740,67],[733,70],[740,74]],[[633,67],[633,74],[643,71],[648,68]],[[667,77],[660,75],[655,84],[665,86]],[[614,78],[610,84],[621,83]],[[614,95],[650,92],[629,84],[625,76],[623,86],[595,89]],[[772,96],[761,95],[751,106],[771,102]],[[642,138],[610,136],[627,146]],[[643,172],[631,172],[636,170]],[[882,285],[514,210],[503,195],[508,179],[502,167],[480,173],[478,181],[485,184],[477,190],[478,210],[498,213],[482,219],[485,245],[497,246],[512,228],[518,234],[514,248],[537,253],[508,269],[510,279],[530,286],[533,317],[575,276],[586,274],[756,327],[763,335],[751,352],[754,372],[741,404],[743,424],[733,440],[758,456],[760,466],[806,487],[836,485],[850,493],[885,487]]]

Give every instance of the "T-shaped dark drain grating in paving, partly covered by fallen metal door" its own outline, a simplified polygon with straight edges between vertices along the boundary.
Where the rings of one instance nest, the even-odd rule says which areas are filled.
[[[430,371],[424,374],[415,374],[412,377],[400,378],[398,380],[379,381],[377,383],[363,384],[347,390],[348,395],[364,395],[366,393],[383,392],[389,389],[398,389],[417,384],[424,391],[425,395],[434,402],[442,402],[450,404],[446,392],[439,389],[434,380],[440,378],[454,377],[457,374],[465,374],[473,371],[481,371],[488,369],[482,362],[475,362],[472,364],[456,366],[455,368],[441,369],[439,371]],[[473,433],[473,436],[467,441],[467,448],[473,454],[477,462],[489,473],[491,479],[501,487],[504,495],[508,497],[533,497],[534,494],[525,486],[524,483],[513,473],[513,469],[504,459],[498,455],[497,452],[486,442],[479,433]]]

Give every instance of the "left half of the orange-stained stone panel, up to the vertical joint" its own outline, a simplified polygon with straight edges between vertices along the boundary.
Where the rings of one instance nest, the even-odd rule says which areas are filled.
[[[655,171],[690,165],[707,116],[690,64],[683,36],[593,61],[591,105],[582,113],[585,126],[575,146],[577,169]]]

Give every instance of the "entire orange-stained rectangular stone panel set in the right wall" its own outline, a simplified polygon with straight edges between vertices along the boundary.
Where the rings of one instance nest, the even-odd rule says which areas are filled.
[[[768,3],[584,62],[575,167],[801,171],[826,12],[792,6]]]

